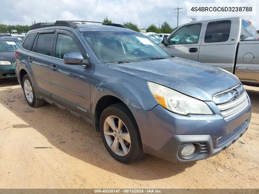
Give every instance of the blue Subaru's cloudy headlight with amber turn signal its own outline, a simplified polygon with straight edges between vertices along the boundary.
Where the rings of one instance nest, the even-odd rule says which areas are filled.
[[[162,107],[181,115],[213,114],[208,105],[200,100],[186,96],[168,87],[147,82],[150,92]]]

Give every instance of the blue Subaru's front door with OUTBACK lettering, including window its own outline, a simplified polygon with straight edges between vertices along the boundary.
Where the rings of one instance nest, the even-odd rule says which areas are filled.
[[[50,66],[52,98],[55,102],[90,118],[90,76],[92,67],[67,65],[63,56],[70,52],[86,52],[71,32],[59,30]]]

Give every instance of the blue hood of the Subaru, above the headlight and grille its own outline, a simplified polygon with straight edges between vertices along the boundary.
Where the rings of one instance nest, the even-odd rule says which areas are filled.
[[[204,63],[173,57],[108,67],[175,89],[203,101],[241,82],[234,75]]]

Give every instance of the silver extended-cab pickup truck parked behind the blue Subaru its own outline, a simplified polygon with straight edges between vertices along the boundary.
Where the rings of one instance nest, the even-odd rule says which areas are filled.
[[[246,85],[259,86],[257,31],[241,17],[184,24],[159,46],[173,56],[222,68]]]

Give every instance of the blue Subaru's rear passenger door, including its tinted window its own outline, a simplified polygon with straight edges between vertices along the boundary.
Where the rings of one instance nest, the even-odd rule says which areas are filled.
[[[28,61],[32,68],[36,85],[35,92],[51,99],[51,86],[49,66],[51,64],[55,30],[42,30],[38,32],[32,49],[29,51]]]

